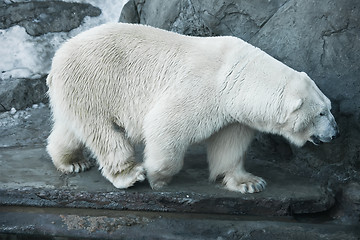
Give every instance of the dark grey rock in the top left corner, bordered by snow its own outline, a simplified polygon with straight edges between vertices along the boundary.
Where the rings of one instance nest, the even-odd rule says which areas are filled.
[[[101,10],[90,4],[61,1],[2,3],[0,29],[22,26],[31,36],[48,32],[68,32],[77,28],[85,16],[99,16]]]

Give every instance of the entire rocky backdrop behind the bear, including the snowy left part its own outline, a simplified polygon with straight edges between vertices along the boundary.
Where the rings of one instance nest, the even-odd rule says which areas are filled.
[[[56,49],[103,22],[237,36],[307,72],[332,100],[341,130],[333,143],[301,149],[259,135],[250,153],[336,191],[350,186],[339,198],[354,202],[349,199],[360,188],[360,1],[130,0],[121,12],[122,2],[0,0],[0,112],[46,103],[45,78]]]

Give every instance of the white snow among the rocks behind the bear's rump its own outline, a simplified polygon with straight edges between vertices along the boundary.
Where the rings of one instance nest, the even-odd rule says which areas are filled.
[[[69,33],[47,33],[39,37],[32,37],[20,26],[0,30],[0,79],[34,79],[47,74],[50,70],[51,59],[61,43],[91,27],[106,22],[118,22],[122,7],[128,0],[65,1],[90,3],[100,8],[102,14],[98,17],[86,17],[80,27]]]

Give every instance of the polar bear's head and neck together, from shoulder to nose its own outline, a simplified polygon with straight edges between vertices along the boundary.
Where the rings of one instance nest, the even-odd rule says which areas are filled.
[[[223,81],[221,96],[232,121],[287,138],[297,146],[339,135],[331,102],[303,72],[261,50],[239,61]]]

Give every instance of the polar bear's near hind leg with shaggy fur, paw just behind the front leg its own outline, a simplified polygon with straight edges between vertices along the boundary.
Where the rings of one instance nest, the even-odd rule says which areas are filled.
[[[137,181],[145,180],[145,170],[136,163],[134,147],[122,129],[105,122],[92,123],[86,139],[102,175],[116,188],[128,188]]]

